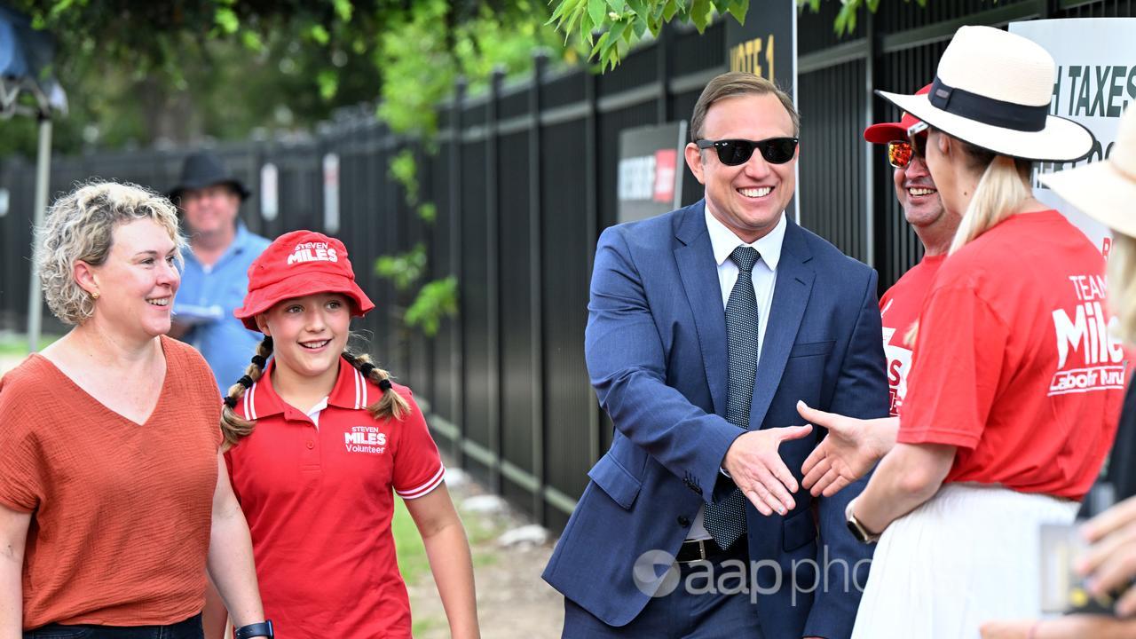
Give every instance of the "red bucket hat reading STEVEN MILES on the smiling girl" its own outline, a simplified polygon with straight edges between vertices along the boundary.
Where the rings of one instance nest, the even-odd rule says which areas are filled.
[[[348,296],[356,317],[375,308],[356,284],[343,242],[315,231],[292,231],[276,238],[249,266],[249,292],[233,315],[249,330],[259,331],[257,315],[285,299],[315,293]]]

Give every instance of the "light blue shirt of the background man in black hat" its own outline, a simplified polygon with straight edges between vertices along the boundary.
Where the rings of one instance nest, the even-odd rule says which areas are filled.
[[[182,288],[174,300],[174,320],[192,329],[182,338],[209,363],[224,395],[244,374],[262,334],[244,327],[233,310],[244,302],[249,265],[270,242],[237,224],[236,236],[212,266],[185,251]]]

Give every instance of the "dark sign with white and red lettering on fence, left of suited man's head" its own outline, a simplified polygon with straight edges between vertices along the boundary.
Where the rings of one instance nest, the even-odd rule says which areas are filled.
[[[683,201],[686,121],[619,132],[619,222],[675,210]]]

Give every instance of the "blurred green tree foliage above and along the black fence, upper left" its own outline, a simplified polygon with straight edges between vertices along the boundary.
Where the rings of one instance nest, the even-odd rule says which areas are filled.
[[[543,27],[544,0],[11,1],[58,38],[53,70],[72,101],[56,128],[64,152],[304,131],[360,102],[377,102],[379,119],[429,151],[436,107],[459,75],[477,91],[496,68],[527,73],[537,48],[553,61],[579,55]],[[34,153],[34,123],[2,126],[0,156]],[[436,207],[419,201],[414,153],[390,172],[429,233]],[[434,334],[457,313],[454,279],[424,282],[424,244],[375,269],[394,285],[407,329]]]

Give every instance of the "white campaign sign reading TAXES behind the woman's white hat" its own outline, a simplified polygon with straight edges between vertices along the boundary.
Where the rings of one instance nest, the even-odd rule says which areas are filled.
[[[1078,122],[1096,136],[1086,159],[1072,164],[1041,163],[1035,169],[1034,193],[1064,214],[1108,255],[1109,230],[1038,183],[1036,173],[1100,161],[1112,152],[1120,114],[1136,102],[1136,18],[1029,20],[1010,23],[1010,32],[1037,42],[1056,61],[1050,114]]]

